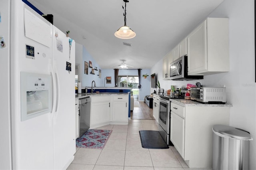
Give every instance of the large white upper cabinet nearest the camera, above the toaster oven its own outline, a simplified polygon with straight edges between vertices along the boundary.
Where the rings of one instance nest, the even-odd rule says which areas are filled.
[[[187,37],[188,75],[229,71],[228,18],[207,18]]]

